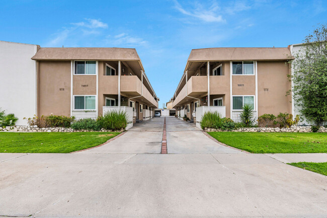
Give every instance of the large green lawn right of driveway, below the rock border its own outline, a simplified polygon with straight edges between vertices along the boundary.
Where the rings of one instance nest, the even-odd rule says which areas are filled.
[[[228,146],[251,153],[327,153],[327,133],[208,132]]]

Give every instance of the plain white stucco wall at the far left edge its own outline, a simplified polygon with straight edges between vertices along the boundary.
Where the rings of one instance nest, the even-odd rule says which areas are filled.
[[[19,118],[16,125],[36,114],[36,52],[36,45],[0,41],[0,108]]]

